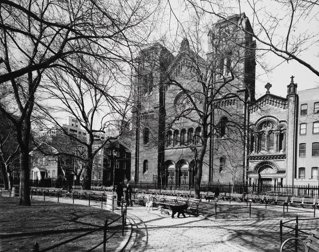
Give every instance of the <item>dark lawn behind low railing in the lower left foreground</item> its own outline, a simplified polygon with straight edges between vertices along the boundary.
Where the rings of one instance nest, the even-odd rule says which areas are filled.
[[[108,210],[81,205],[32,201],[31,207],[24,207],[16,206],[16,203],[17,198],[0,197],[0,252],[31,251],[35,242],[38,242],[40,249],[45,249],[88,232],[83,229],[101,227],[105,219],[110,222],[119,217]],[[112,224],[107,237],[121,224],[121,219]],[[118,232],[107,241],[107,251],[118,247],[123,240],[121,235],[122,232]],[[50,251],[82,252],[102,241],[101,230]],[[94,251],[102,251],[102,246]]]

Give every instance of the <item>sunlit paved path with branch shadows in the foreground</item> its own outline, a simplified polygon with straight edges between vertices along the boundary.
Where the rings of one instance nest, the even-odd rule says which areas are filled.
[[[280,219],[216,220],[188,215],[172,219],[141,206],[129,207],[128,217],[132,237],[127,252],[279,251]],[[318,227],[318,223],[311,225]]]

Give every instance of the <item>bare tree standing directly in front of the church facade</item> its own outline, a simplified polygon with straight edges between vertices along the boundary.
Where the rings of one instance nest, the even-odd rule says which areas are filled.
[[[244,150],[240,179],[244,178],[247,104],[254,100],[255,64],[254,50],[246,47],[254,47],[252,37],[231,23],[217,23],[210,31],[200,31],[203,27],[196,19],[192,28],[193,33],[188,32],[190,42],[182,41],[177,60],[168,71],[166,100],[174,103],[166,106],[167,130],[171,132],[166,144],[191,150],[194,191],[199,198],[203,165],[212,166],[214,157],[219,155],[206,154],[218,148],[227,155],[229,146],[225,143],[231,145],[240,139]],[[205,59],[201,56],[200,36],[208,32],[210,47]]]

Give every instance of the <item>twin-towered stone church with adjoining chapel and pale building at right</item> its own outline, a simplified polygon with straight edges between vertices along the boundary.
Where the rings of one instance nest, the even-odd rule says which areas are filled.
[[[318,184],[319,113],[315,112],[317,104],[319,111],[319,95],[312,100],[305,100],[309,96],[304,94],[299,97],[292,77],[286,97],[271,94],[271,84],[266,84],[266,94],[256,100],[255,41],[234,26],[243,25],[252,32],[250,22],[245,14],[229,20],[231,23],[222,21],[212,26],[207,59],[195,53],[186,39],[175,56],[161,44],[140,52],[133,83],[136,133],[132,181],[193,184],[198,162],[194,154],[201,150],[207,129],[202,182]],[[217,38],[218,34],[225,37]],[[227,43],[227,36],[237,36],[236,45]],[[212,74],[214,85],[208,85],[211,105],[200,117],[188,95],[196,96],[201,84],[198,80],[212,69],[206,68],[212,62],[217,67]],[[198,72],[201,76],[196,76]],[[205,108],[205,96],[198,97]],[[301,104],[303,108],[308,104],[309,111],[314,112],[312,119],[303,116],[302,123],[298,121]],[[305,125],[313,127],[311,136],[304,134]],[[300,155],[306,150],[309,154],[303,158]]]

